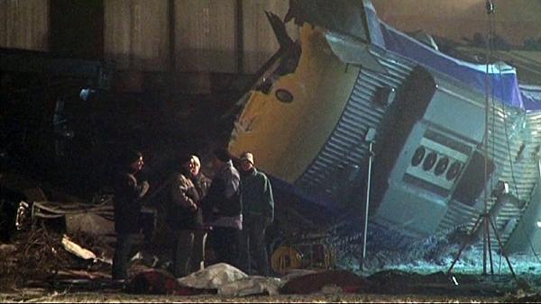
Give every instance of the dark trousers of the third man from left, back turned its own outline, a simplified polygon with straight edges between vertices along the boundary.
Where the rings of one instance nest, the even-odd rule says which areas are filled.
[[[214,227],[212,234],[212,249],[215,252],[215,262],[238,267],[239,230]]]

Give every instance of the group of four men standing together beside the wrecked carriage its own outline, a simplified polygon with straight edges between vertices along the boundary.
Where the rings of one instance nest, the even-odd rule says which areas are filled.
[[[137,178],[144,164],[142,154],[132,151],[122,158],[123,169],[115,177],[115,280],[128,279],[130,255],[141,230],[142,197],[150,189],[149,183]],[[175,236],[173,275],[183,277],[200,270],[207,243],[215,263],[269,275],[265,230],[274,219],[269,178],[257,170],[250,152],[240,156],[240,173],[225,148],[214,150],[212,166],[211,181],[200,171],[197,156],[181,156],[172,177],[166,212]]]

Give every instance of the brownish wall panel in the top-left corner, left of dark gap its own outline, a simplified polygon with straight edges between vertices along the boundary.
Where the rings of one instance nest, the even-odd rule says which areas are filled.
[[[47,50],[49,0],[0,1],[0,47]]]

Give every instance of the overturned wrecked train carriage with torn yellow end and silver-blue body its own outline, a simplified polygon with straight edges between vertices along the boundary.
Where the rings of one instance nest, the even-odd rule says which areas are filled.
[[[487,202],[509,252],[541,249],[527,242],[541,217],[538,86],[393,29],[368,0],[292,0],[298,41],[267,15],[280,50],[239,102],[232,152],[252,150],[309,201],[361,210],[375,130],[372,223],[427,237],[473,228]]]

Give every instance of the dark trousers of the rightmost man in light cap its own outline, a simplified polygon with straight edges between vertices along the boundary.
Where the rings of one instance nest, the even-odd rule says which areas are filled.
[[[252,274],[252,264],[257,274],[269,275],[269,257],[265,242],[268,222],[263,217],[246,217],[241,231],[240,264],[243,271]]]

